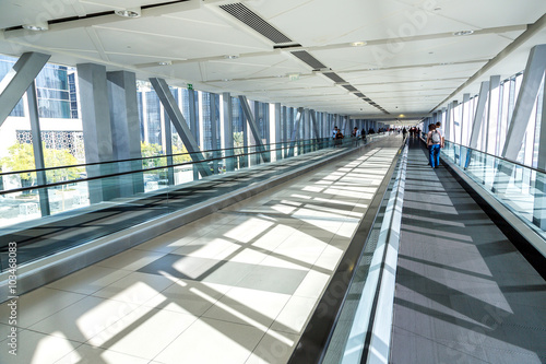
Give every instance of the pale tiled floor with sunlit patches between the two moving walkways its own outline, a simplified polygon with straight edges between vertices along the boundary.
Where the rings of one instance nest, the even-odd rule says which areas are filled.
[[[20,298],[0,363],[286,363],[400,145],[382,142]],[[9,330],[0,307],[0,333]]]

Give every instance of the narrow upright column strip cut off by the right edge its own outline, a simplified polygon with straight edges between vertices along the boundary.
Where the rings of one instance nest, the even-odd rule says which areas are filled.
[[[538,140],[538,158],[536,167],[538,169],[546,171],[546,80],[544,80],[542,111],[543,115],[541,116],[541,137]],[[546,228],[546,175],[544,173],[536,174],[533,223],[542,230]]]

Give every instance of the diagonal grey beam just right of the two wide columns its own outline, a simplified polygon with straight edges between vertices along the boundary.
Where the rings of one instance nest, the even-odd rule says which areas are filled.
[[[159,101],[162,102],[165,110],[167,111],[173,125],[175,126],[178,136],[182,139],[183,144],[188,152],[190,152],[190,156],[193,162],[203,162],[204,157],[201,151],[199,150],[198,142],[193,138],[190,128],[188,128],[188,124],[183,118],[180,108],[178,107],[173,94],[170,93],[169,86],[164,79],[151,78],[150,82],[154,87],[157,96],[159,96]],[[211,175],[211,169],[205,163],[197,163],[199,173],[202,177],[207,177]]]

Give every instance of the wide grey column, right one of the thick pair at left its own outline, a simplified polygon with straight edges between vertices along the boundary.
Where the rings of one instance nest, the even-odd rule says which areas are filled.
[[[134,72],[107,72],[112,156],[115,160],[141,158],[139,103]],[[170,128],[170,122],[166,121]],[[167,140],[170,140],[167,138]],[[168,151],[167,151],[168,153]],[[118,172],[139,171],[140,161],[118,164]],[[132,196],[144,191],[142,174],[120,176],[120,196]]]

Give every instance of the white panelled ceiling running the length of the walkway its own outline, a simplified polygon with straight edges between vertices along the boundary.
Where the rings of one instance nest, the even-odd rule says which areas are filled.
[[[507,78],[522,71],[531,47],[546,43],[546,21],[536,25],[538,32],[526,31],[527,40],[518,39],[527,24],[544,15],[544,0],[240,1],[288,36],[290,45],[269,40],[218,8],[229,2],[0,1],[0,27],[9,28],[0,37],[0,52],[40,51],[67,66],[96,62],[108,70],[134,71],[140,79],[192,83],[195,90],[384,117],[322,73],[347,82],[392,115],[428,114],[450,95],[474,94],[492,74]],[[138,7],[145,9],[136,19],[112,14],[115,9]],[[107,14],[78,19],[99,12]],[[50,22],[49,31],[11,28],[38,15]],[[75,19],[59,21],[68,16]],[[464,30],[475,34],[452,35]],[[368,44],[349,45],[358,40]],[[290,46],[295,48],[286,48]]]

